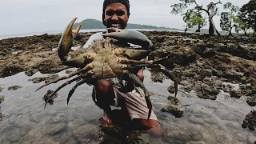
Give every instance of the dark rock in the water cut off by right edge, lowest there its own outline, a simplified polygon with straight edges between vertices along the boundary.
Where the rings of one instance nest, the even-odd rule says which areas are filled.
[[[255,130],[256,127],[256,110],[250,111],[243,120],[242,128],[249,128],[249,130]]]

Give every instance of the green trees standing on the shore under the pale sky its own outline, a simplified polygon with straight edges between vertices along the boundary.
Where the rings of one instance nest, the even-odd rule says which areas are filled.
[[[191,6],[192,8],[188,8]],[[219,34],[215,27],[213,18],[218,14],[218,8],[222,6],[221,0],[218,2],[210,2],[207,6],[198,5],[196,0],[180,0],[171,7],[171,14],[181,14],[183,21],[186,22],[185,33],[191,28],[197,28],[196,32],[200,32],[202,26],[206,26],[209,22],[209,34]],[[221,13],[220,27],[232,35],[232,30],[238,34],[243,31],[247,35],[248,30],[256,33],[256,0],[244,4],[241,8],[234,6],[231,2],[223,5],[224,10]],[[185,11],[184,11],[185,10]]]

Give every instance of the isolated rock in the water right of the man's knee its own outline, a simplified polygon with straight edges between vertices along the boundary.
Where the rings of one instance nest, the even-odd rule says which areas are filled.
[[[168,97],[168,100],[168,106],[163,107],[161,111],[173,114],[176,118],[181,118],[184,113],[182,102],[171,96]]]

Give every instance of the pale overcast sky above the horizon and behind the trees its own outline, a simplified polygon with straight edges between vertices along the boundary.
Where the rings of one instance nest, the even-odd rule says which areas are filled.
[[[76,22],[86,18],[102,20],[103,0],[0,0],[0,36],[64,30],[68,22],[77,17]],[[185,22],[180,14],[170,14],[170,6],[179,0],[130,0],[130,23],[166,26],[184,29]],[[196,0],[206,7],[218,0]],[[249,0],[221,0],[241,7]],[[225,11],[219,5],[220,13]],[[214,17],[218,30],[220,16]],[[204,28],[207,29],[207,26]]]

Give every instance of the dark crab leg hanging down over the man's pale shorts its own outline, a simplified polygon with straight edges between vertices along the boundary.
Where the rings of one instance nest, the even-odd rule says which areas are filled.
[[[138,79],[138,77],[135,75],[135,74],[131,74],[129,73],[129,77],[135,82],[138,84],[139,87],[142,88],[142,90],[144,90],[144,93],[145,93],[145,99],[146,99],[146,106],[148,107],[149,109],[149,113],[148,113],[148,117],[147,119],[150,119],[150,115],[151,115],[151,112],[152,112],[152,103],[150,101],[150,94],[149,94],[149,91],[146,89],[146,86],[144,85],[144,83]]]

